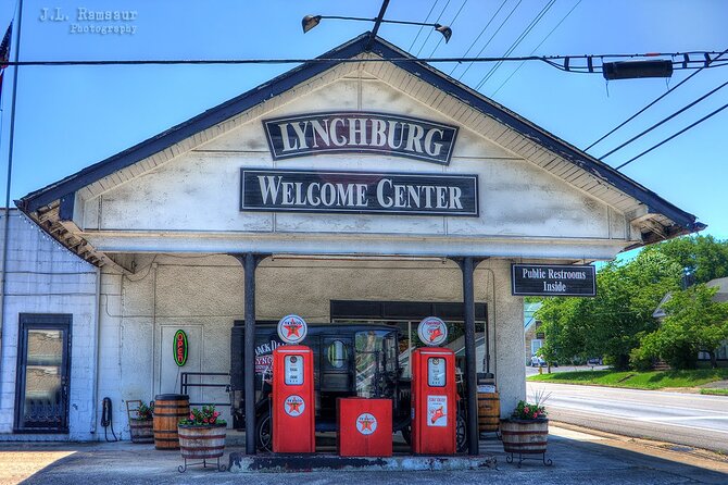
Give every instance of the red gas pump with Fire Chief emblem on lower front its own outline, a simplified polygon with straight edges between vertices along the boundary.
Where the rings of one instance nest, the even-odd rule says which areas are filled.
[[[419,323],[419,338],[441,345],[448,327],[430,316]],[[455,352],[441,347],[412,353],[412,450],[419,455],[454,455],[457,412]]]

